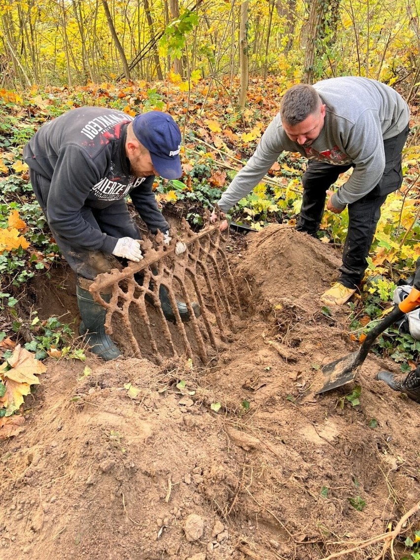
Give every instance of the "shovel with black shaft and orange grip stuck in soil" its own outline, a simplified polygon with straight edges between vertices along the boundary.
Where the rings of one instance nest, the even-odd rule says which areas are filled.
[[[327,363],[323,368],[322,372],[324,374],[324,385],[321,389],[316,391],[315,395],[320,393],[325,393],[325,391],[330,391],[342,385],[346,385],[350,381],[353,381],[356,376],[357,366],[360,366],[362,362],[365,361],[367,353],[375,342],[376,337],[388,329],[390,325],[401,319],[409,311],[413,311],[417,307],[420,307],[420,291],[416,288],[412,288],[409,295],[398,304],[398,306],[386,315],[374,328],[368,333],[365,340],[363,340],[361,347],[351,354],[347,354],[339,360]]]

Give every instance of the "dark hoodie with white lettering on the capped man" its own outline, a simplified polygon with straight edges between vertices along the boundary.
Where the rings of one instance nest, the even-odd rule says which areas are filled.
[[[125,154],[127,125],[132,118],[113,109],[86,107],[68,111],[44,124],[24,148],[39,181],[48,223],[70,244],[112,253],[116,239],[92,227],[83,207],[109,208],[127,195],[153,234],[169,225],[152,191],[154,175],[134,177]]]

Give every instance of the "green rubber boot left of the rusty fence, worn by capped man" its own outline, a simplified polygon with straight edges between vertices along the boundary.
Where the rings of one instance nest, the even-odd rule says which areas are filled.
[[[94,296],[88,290],[83,290],[78,284],[76,293],[77,304],[82,317],[79,328],[80,334],[85,335],[85,340],[91,352],[107,362],[115,360],[122,354],[105,332],[106,309],[97,304]],[[101,294],[101,297],[107,302],[111,299],[110,294]]]

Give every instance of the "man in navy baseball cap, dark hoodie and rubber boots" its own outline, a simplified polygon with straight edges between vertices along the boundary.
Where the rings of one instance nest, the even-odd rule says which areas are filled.
[[[169,224],[152,185],[157,175],[182,175],[180,148],[179,127],[167,113],[150,111],[132,119],[122,111],[97,107],[74,109],[44,124],[24,148],[36,199],[77,274],[81,334],[104,360],[113,360],[120,351],[105,333],[105,309],[93,300],[89,281],[110,270],[111,255],[135,262],[143,258],[127,195],[150,231],[162,231],[169,244]],[[182,251],[185,245],[178,242],[176,253]],[[166,318],[174,320],[163,286],[160,299]],[[197,304],[193,309],[199,315]],[[189,320],[183,302],[178,302],[178,310]]]

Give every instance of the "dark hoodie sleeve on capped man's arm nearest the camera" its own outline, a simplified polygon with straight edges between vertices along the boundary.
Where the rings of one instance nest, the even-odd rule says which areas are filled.
[[[82,216],[81,209],[90,190],[101,176],[86,152],[67,145],[59,155],[48,195],[48,223],[72,245],[91,251],[112,253],[116,237],[95,229]]]

